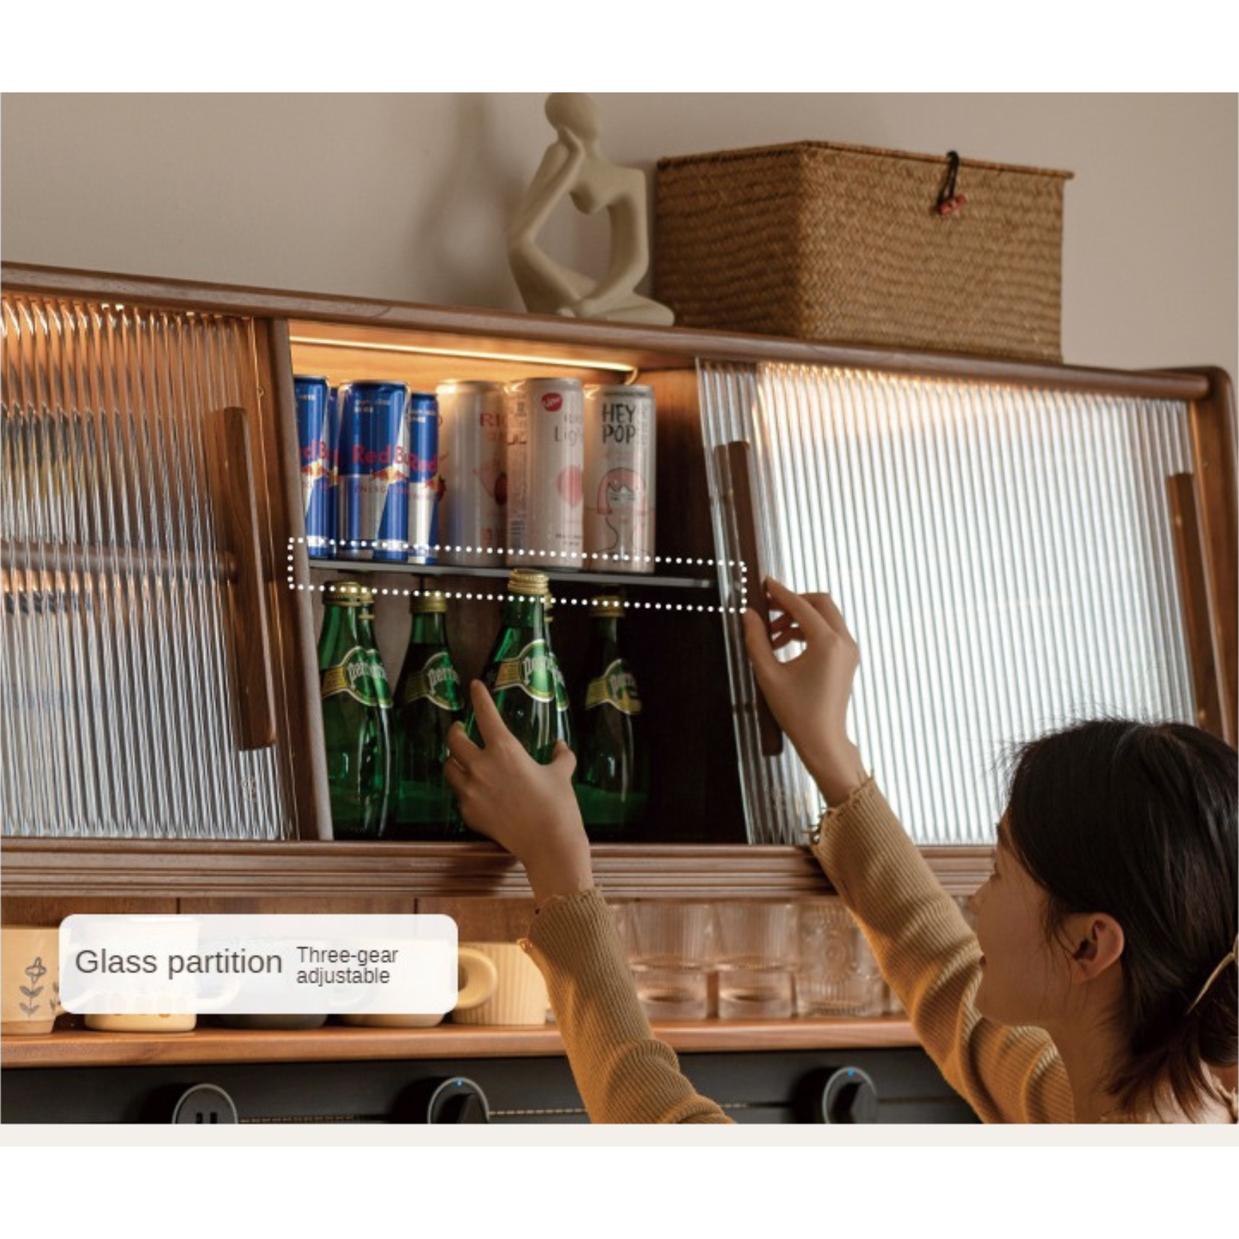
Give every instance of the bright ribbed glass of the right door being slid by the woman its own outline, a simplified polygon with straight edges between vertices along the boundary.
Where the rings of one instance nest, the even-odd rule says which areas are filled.
[[[1166,496],[1193,467],[1186,405],[823,367],[709,363],[699,382],[720,558],[738,550],[714,449],[746,440],[764,570],[839,603],[861,649],[851,733],[917,843],[992,843],[1020,741],[1194,720]],[[802,841],[817,788],[736,717],[751,839]]]

